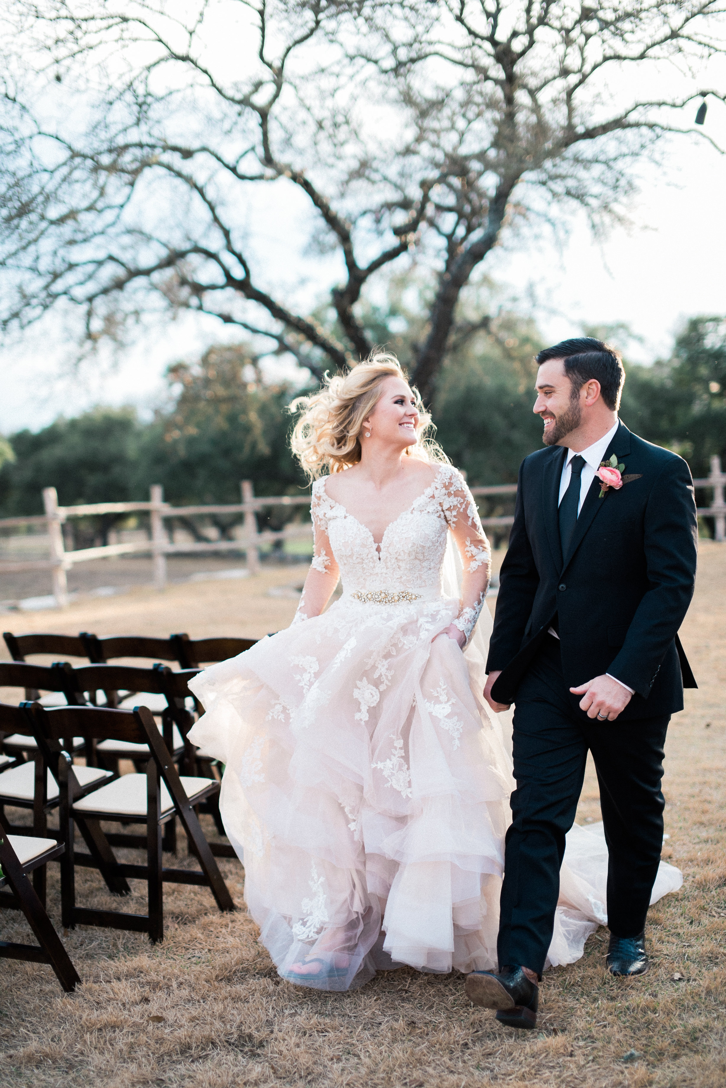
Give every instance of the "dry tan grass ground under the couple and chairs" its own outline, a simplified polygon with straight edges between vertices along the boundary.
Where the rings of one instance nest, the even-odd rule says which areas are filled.
[[[16,632],[260,635],[292,617],[298,572],[78,601],[63,614],[3,617]],[[606,931],[581,961],[545,975],[539,1030],[515,1033],[465,998],[462,976],[380,974],[350,994],[282,981],[245,914],[244,873],[222,867],[241,910],[220,915],[207,889],[167,885],[167,937],[79,927],[64,936],[83,978],[64,996],[50,968],[0,961],[0,1085],[64,1088],[723,1088],[726,1085],[726,546],[702,547],[681,632],[701,684],[670,727],[666,856],[685,885],[651,910],[653,966],[631,982],[604,970]],[[588,775],[578,820],[596,818]],[[181,861],[185,849],[181,848]],[[58,868],[49,904],[60,925]],[[112,904],[82,870],[85,902]],[[125,910],[144,910],[139,894]],[[126,905],[128,904],[128,905]],[[3,913],[4,939],[23,923]],[[12,936],[11,936],[12,935]]]

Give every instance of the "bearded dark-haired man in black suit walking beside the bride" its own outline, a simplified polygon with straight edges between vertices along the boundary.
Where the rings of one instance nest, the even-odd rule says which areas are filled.
[[[519,470],[484,696],[514,712],[499,973],[466,991],[533,1028],[565,834],[592,752],[605,839],[607,966],[648,969],[645,914],[663,842],[663,745],[696,688],[678,628],[693,594],[698,527],[686,461],[618,421],[625,379],[601,341],[540,351],[545,449]]]

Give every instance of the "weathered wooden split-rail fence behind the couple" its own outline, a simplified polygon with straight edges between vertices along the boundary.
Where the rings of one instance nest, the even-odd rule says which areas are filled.
[[[711,489],[713,492],[711,506],[699,507],[698,512],[703,517],[713,518],[715,540],[726,540],[726,502],[724,500],[726,474],[722,471],[721,458],[712,457],[710,475],[704,480],[694,480],[693,483],[697,489]],[[481,495],[482,497],[515,495],[517,485],[507,483],[487,487],[472,487],[471,492],[473,495]],[[310,496],[269,495],[256,497],[249,480],[242,481],[242,503],[234,505],[175,507],[169,503],[164,503],[163,491],[160,484],[151,486],[148,503],[93,503],[87,506],[59,506],[58,494],[54,487],[46,487],[44,490],[42,500],[46,510],[45,515],[0,519],[0,531],[13,528],[45,527],[49,543],[48,558],[0,561],[0,574],[30,570],[49,571],[52,580],[52,594],[56,597],[58,606],[61,608],[67,604],[67,571],[77,562],[88,562],[91,559],[111,558],[112,556],[120,555],[150,553],[153,584],[158,590],[163,590],[167,584],[168,555],[208,555],[224,552],[244,552],[247,557],[249,573],[256,574],[259,571],[260,545],[295,537],[299,539],[300,536],[310,536],[312,533],[312,527],[309,521],[292,523],[280,530],[262,530],[260,532],[257,527],[257,518],[255,517],[259,510],[268,507],[307,506],[310,503]],[[149,515],[149,540],[65,551],[63,524],[69,519],[99,517],[109,514],[141,512]],[[164,529],[164,521],[172,518],[239,514],[243,515],[243,536],[237,540],[196,541],[176,544],[169,540]],[[484,529],[494,531],[506,531],[513,521],[514,518],[510,516],[482,518]]]

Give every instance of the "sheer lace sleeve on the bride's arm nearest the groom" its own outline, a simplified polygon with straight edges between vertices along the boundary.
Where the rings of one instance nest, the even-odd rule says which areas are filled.
[[[462,473],[457,472],[456,469],[451,469],[444,479],[443,490],[444,517],[456,542],[464,567],[462,607],[454,623],[459,631],[464,632],[468,642],[484,606],[492,568],[492,553],[473,495],[467,487]]]

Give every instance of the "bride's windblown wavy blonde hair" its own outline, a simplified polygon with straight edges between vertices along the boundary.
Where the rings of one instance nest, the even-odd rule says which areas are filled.
[[[381,385],[386,378],[408,381],[395,355],[372,351],[368,359],[353,367],[347,374],[330,378],[325,374],[320,392],[297,397],[291,412],[300,412],[291,436],[291,446],[304,472],[317,480],[328,472],[342,472],[360,460],[362,422],[381,398]],[[441,446],[433,441],[435,431],[431,416],[424,410],[418,390],[419,413],[416,445],[405,450],[408,457],[422,461],[448,461]]]

